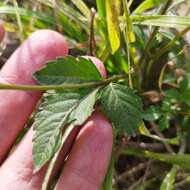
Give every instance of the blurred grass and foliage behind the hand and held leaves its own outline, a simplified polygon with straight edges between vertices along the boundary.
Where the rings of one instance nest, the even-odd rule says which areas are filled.
[[[126,74],[144,103],[139,131],[117,134],[115,190],[190,189],[190,1],[2,0],[0,63],[32,32],[65,35],[71,55]]]

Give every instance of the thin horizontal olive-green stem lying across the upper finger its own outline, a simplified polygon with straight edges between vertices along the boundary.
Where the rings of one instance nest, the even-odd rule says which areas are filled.
[[[63,84],[63,85],[16,85],[16,84],[1,84],[0,90],[26,90],[26,91],[46,91],[46,90],[65,90],[65,89],[77,89],[77,88],[90,88],[97,87],[101,85],[109,84],[117,80],[125,79],[123,75],[116,75],[108,79],[103,79],[96,82],[86,82],[80,84]]]

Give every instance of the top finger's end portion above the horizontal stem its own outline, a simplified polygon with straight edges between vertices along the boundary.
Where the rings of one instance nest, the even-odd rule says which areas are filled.
[[[10,57],[1,70],[1,76],[12,83],[35,84],[32,77],[35,71],[47,61],[67,54],[68,45],[61,34],[52,30],[38,30]],[[13,76],[16,78],[12,79]]]

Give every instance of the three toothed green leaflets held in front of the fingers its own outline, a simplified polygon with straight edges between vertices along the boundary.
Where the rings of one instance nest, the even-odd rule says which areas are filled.
[[[73,84],[103,80],[96,66],[83,57],[58,58],[34,74],[42,85]],[[33,157],[38,171],[56,153],[68,125],[82,125],[95,109],[96,102],[117,131],[133,133],[142,120],[141,99],[129,87],[109,83],[95,88],[51,90],[35,118]]]

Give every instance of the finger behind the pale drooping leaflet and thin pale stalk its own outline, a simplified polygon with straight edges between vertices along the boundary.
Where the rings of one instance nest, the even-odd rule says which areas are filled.
[[[67,139],[64,149],[61,152],[57,161],[59,166],[66,157],[68,150],[76,137],[78,129],[75,128]],[[47,170],[44,166],[39,172],[33,174],[33,160],[32,160],[32,138],[33,127],[29,130],[27,135],[21,141],[17,149],[11,156],[3,163],[0,168],[0,189],[6,190],[39,190]],[[55,168],[54,173],[58,170]],[[54,175],[54,174],[52,174]]]

